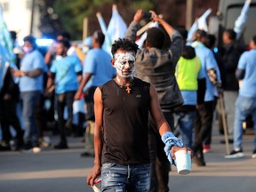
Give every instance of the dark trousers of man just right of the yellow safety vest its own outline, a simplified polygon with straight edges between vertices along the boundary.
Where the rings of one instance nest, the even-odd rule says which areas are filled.
[[[214,111],[214,101],[207,101],[196,108],[196,121],[195,121],[195,148],[203,148],[203,142],[211,141],[212,138],[212,119]],[[209,138],[211,135],[211,138]]]

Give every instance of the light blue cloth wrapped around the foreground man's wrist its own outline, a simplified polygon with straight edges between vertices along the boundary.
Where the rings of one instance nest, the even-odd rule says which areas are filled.
[[[172,132],[164,132],[164,134],[162,135],[162,140],[165,144],[164,151],[168,160],[170,161],[171,164],[176,165],[174,163],[174,159],[172,159],[172,156],[171,156],[171,148],[172,146],[178,146],[182,148],[183,141],[175,137],[175,135]]]

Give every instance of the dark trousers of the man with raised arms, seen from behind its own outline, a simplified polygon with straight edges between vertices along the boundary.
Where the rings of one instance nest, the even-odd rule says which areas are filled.
[[[164,117],[170,127],[173,127],[172,112],[164,112]],[[151,163],[150,192],[169,191],[168,181],[171,164],[164,152],[164,142],[158,132],[156,124],[149,116],[148,119],[148,148]]]

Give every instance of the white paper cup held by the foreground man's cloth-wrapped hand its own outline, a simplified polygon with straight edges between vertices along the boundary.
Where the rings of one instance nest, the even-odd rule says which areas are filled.
[[[177,171],[181,175],[186,175],[191,172],[191,156],[190,151],[179,150],[175,153],[175,164]]]

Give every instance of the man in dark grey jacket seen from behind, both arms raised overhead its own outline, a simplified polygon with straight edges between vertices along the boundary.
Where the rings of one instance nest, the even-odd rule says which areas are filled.
[[[169,126],[173,129],[172,109],[183,103],[174,76],[175,66],[182,51],[183,39],[177,30],[165,20],[160,19],[155,12],[151,12],[151,14],[153,14],[153,20],[164,27],[168,37],[165,37],[162,28],[148,28],[146,47],[136,54],[135,76],[156,87],[161,110]],[[135,41],[136,32],[143,17],[142,10],[135,13],[132,23],[127,29],[126,38]],[[168,48],[165,49],[166,42],[172,42],[172,44],[168,44]],[[148,143],[151,162],[149,191],[169,191],[168,180],[171,166],[165,156],[164,143],[157,132],[157,126],[152,116],[149,116],[148,121]]]

